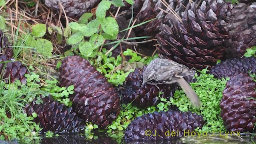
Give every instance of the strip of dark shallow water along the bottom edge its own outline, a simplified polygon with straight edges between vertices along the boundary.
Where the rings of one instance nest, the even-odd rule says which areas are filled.
[[[88,140],[84,135],[66,135],[35,140],[33,144],[253,144],[250,137],[208,134],[207,136],[186,136],[176,141],[134,142],[122,138],[115,139],[106,134],[95,134],[97,139]],[[0,144],[18,144],[0,141]],[[22,144],[22,143],[20,143]]]

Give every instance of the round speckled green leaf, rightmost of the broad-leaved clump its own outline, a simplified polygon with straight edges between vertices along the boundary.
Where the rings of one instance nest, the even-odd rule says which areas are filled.
[[[103,20],[101,23],[102,29],[104,32],[111,36],[117,36],[119,31],[119,26],[116,22],[116,20],[112,17],[107,17]]]

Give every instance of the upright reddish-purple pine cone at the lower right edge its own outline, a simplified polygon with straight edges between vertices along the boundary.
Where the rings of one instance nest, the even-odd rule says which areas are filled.
[[[256,83],[248,74],[237,74],[223,90],[220,116],[228,131],[254,132],[256,122]]]

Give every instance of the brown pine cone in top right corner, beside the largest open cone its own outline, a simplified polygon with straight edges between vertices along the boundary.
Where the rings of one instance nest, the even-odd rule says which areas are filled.
[[[231,11],[229,38],[225,41],[227,58],[240,58],[246,48],[256,45],[256,3],[247,3],[239,3]]]

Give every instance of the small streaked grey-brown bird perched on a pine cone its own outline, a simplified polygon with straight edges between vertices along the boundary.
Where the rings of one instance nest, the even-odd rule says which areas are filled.
[[[193,106],[200,107],[200,99],[190,87],[184,77],[194,75],[196,70],[189,69],[183,64],[179,64],[169,59],[155,58],[148,64],[143,72],[142,85],[144,84],[172,84],[178,82]],[[155,81],[155,82],[153,82]]]

